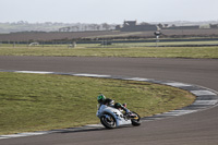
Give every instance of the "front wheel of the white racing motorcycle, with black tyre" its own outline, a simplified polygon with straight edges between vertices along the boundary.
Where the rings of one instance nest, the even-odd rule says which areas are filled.
[[[114,129],[117,126],[116,119],[110,113],[102,114],[100,122],[107,129]]]

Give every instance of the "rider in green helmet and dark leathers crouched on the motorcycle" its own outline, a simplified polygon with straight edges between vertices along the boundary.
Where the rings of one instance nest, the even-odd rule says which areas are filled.
[[[135,116],[132,116],[131,111],[126,108],[126,104],[121,105],[120,102],[116,102],[113,99],[110,98],[106,98],[105,95],[100,94],[97,97],[98,104],[99,104],[99,108],[101,105],[106,105],[106,106],[110,106],[110,107],[114,107],[116,109],[123,109],[125,111],[125,114],[128,114],[130,118],[134,118]]]

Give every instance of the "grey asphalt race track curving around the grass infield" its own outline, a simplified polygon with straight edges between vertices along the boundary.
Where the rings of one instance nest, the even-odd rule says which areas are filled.
[[[218,92],[217,59],[0,57],[0,69],[124,75],[177,81]],[[88,130],[1,140],[1,145],[218,145],[218,107],[143,122],[141,126]]]

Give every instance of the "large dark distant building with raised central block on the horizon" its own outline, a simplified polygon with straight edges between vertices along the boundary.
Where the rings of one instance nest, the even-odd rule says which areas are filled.
[[[157,26],[148,23],[138,25],[136,21],[124,21],[123,25],[117,25],[116,29],[121,32],[146,32],[157,31]]]

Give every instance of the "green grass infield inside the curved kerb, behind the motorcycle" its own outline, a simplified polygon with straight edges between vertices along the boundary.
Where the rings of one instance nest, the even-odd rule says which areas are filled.
[[[0,73],[0,134],[99,123],[97,95],[128,102],[142,117],[187,106],[187,92],[134,81]]]

